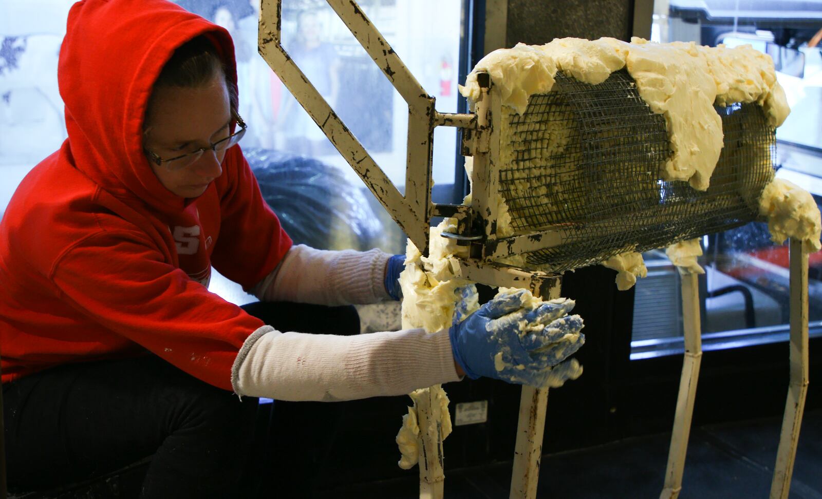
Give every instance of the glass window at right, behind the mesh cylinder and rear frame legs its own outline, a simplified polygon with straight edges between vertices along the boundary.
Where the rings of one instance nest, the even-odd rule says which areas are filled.
[[[808,4],[816,6],[808,7]],[[656,0],[653,41],[743,43],[774,58],[791,115],[777,129],[777,176],[803,186],[822,205],[822,2]],[[787,339],[787,245],[761,222],[704,236],[700,308],[704,350]],[[679,276],[661,250],[644,254],[648,277],[636,285],[631,358],[682,347]],[[810,255],[810,331],[822,333],[822,256]]]

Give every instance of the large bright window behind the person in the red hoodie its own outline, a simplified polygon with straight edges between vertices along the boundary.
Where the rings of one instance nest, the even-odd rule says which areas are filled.
[[[23,176],[67,133],[58,51],[75,0],[0,2],[0,216]],[[177,0],[232,34],[238,61],[242,149],[264,197],[298,243],[325,249],[404,251],[404,234],[256,50],[259,0]],[[358,2],[440,112],[456,112],[463,2]],[[404,190],[408,107],[326,2],[284,0],[283,44],[331,107]],[[436,189],[453,185],[456,130],[434,134]],[[252,298],[214,273],[211,290]]]

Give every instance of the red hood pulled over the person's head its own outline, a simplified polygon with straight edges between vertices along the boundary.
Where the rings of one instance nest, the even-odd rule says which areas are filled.
[[[58,82],[72,163],[110,194],[160,213],[186,200],[167,190],[143,153],[152,87],[183,43],[205,34],[237,85],[229,32],[165,0],[82,0],[68,15]]]

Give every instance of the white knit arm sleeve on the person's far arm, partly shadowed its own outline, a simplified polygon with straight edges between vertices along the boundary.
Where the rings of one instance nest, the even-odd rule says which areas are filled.
[[[390,257],[379,249],[335,251],[294,245],[274,272],[254,287],[254,295],[261,301],[323,305],[387,300],[386,263]]]

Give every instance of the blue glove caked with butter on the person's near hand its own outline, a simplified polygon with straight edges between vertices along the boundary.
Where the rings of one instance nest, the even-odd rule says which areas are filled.
[[[563,362],[585,341],[582,318],[567,315],[574,301],[551,300],[531,309],[524,299],[524,290],[501,293],[450,327],[451,349],[469,378],[546,387],[579,376],[579,363]]]

